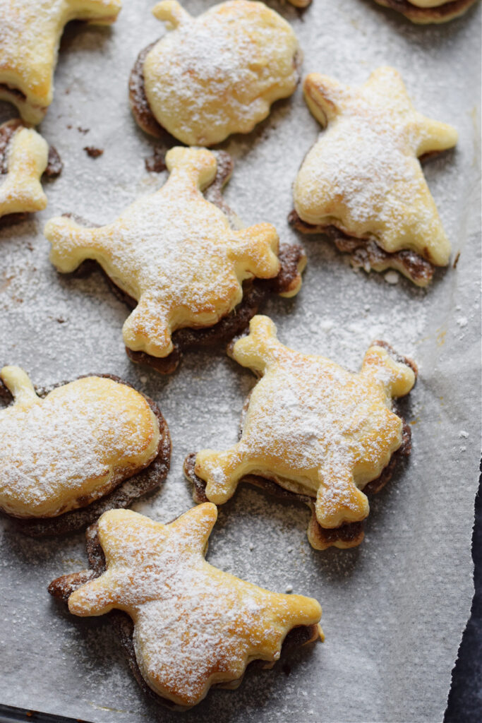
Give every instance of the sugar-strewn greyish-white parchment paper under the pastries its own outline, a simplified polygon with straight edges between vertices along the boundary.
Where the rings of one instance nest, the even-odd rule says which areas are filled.
[[[20,364],[38,385],[110,372],[160,403],[173,438],[171,473],[163,489],[135,509],[167,522],[192,504],[184,456],[236,439],[254,377],[223,350],[187,354],[172,377],[131,364],[121,339],[126,307],[100,273],[57,275],[42,233],[48,218],[66,211],[107,223],[165,179],[145,170],[153,144],[127,103],[138,51],[163,33],[152,4],[124,0],[111,29],[66,32],[55,98],[41,126],[61,153],[64,172],[46,184],[46,211],[0,231],[0,339],[1,363]],[[209,3],[186,0],[185,7],[198,14]],[[457,127],[457,150],[426,163],[425,172],[460,260],[421,291],[401,278],[390,285],[383,275],[356,273],[326,239],[301,237],[309,258],[304,287],[296,299],[272,299],[264,311],[283,342],[350,369],[358,369],[374,338],[413,356],[420,377],[405,405],[413,453],[372,498],[358,549],[314,551],[306,539],[306,508],[249,487],[220,508],[210,562],[273,590],[291,585],[317,597],[326,642],[270,671],[248,673],[236,691],[211,691],[183,716],[199,723],[439,721],[473,595],[480,6],[439,27],[416,27],[371,0],[314,0],[303,14],[287,4],[272,7],[293,23],[304,73],[357,84],[392,64],[419,111]],[[7,105],[1,110],[3,119],[14,114]],[[236,158],[225,196],[246,223],[270,221],[282,240],[298,240],[286,223],[291,184],[318,132],[298,88],[254,133],[223,144]],[[82,150],[87,145],[103,155],[89,158]],[[145,701],[106,617],[80,620],[48,596],[53,578],[85,567],[83,534],[42,542],[7,521],[3,526],[1,701],[95,722],[180,720]]]

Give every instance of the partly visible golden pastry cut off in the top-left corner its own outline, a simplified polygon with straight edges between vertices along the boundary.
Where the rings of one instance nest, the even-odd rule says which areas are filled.
[[[53,97],[59,41],[69,20],[109,25],[121,0],[2,0],[0,3],[0,100],[38,124]]]

